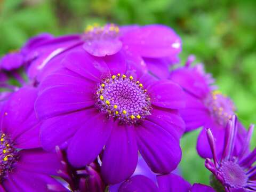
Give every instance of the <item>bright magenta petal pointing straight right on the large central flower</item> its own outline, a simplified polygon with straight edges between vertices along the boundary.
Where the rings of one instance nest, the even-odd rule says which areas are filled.
[[[148,87],[151,103],[158,107],[179,109],[185,107],[184,92],[169,80],[157,81]]]

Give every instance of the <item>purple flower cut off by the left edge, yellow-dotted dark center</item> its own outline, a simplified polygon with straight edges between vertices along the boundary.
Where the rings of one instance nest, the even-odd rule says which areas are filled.
[[[34,101],[37,91],[25,87],[11,95],[0,115],[0,191],[49,191],[60,163],[57,155],[39,145],[39,122]]]

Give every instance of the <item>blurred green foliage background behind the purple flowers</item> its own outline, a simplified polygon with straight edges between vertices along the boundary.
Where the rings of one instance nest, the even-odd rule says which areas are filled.
[[[0,55],[38,33],[81,33],[93,22],[172,27],[183,41],[182,62],[195,54],[235,101],[239,120],[256,123],[255,0],[0,0]],[[180,169],[189,182],[208,184],[210,173],[195,149],[198,133],[182,138]]]

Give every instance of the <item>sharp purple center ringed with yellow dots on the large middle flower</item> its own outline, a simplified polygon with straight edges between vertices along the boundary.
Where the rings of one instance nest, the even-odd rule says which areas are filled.
[[[97,107],[120,123],[137,124],[150,114],[147,90],[133,77],[117,74],[98,85]]]

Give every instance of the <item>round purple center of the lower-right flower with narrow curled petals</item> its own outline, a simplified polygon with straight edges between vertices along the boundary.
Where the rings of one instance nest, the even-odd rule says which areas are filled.
[[[222,162],[219,172],[226,185],[233,188],[242,188],[246,186],[248,177],[242,167],[240,167],[237,163],[231,161]]]

